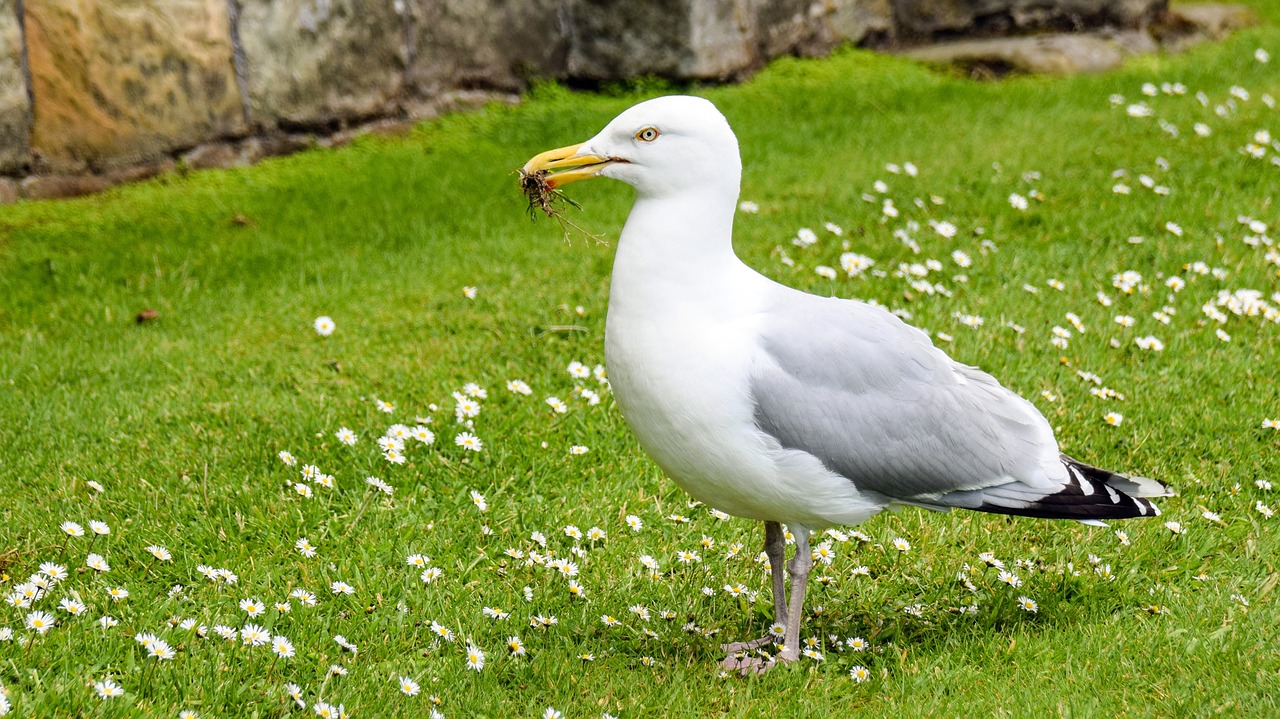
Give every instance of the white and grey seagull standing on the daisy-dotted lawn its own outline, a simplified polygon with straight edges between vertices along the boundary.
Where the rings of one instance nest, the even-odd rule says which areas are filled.
[[[726,645],[726,667],[759,672],[799,658],[814,530],[890,505],[1101,523],[1155,517],[1148,498],[1170,496],[1158,481],[1062,454],[1030,402],[884,308],[800,292],[739,260],[742,162],[710,101],[640,102],[524,173],[552,191],[595,177],[636,191],[604,331],[614,399],[676,484],[764,522],[785,627],[776,656],[746,652],[771,637]]]

